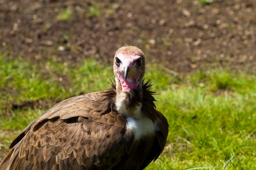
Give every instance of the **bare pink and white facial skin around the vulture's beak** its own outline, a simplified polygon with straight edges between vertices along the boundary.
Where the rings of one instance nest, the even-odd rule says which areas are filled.
[[[117,54],[119,60],[121,60],[121,64],[119,67],[116,67],[115,72],[119,77],[121,82],[122,91],[130,91],[131,89],[136,89],[139,84],[139,77],[142,71],[137,72],[137,65],[135,61],[140,58],[139,55],[136,54]],[[142,61],[141,61],[142,62]],[[127,79],[124,79],[124,68],[128,66],[129,73]]]

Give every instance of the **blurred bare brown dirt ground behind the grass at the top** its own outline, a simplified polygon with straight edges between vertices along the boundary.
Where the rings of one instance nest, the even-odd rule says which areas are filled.
[[[124,45],[177,73],[256,71],[256,1],[0,0],[0,53],[38,63],[112,63]],[[10,92],[11,93],[11,92]]]

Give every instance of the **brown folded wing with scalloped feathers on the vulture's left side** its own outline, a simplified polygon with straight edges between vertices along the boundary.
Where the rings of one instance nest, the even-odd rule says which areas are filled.
[[[94,161],[93,166],[112,162],[109,157],[112,151],[108,149],[122,136],[126,121],[123,118],[121,124],[119,120],[117,126],[114,118],[118,113],[100,115],[95,112],[98,107],[93,103],[99,94],[89,93],[64,100],[35,119],[11,144],[13,149],[10,153],[14,157],[4,160],[9,161],[11,167],[8,169],[20,166],[24,170],[36,167],[65,170],[70,166],[83,169],[83,165],[90,167]],[[111,114],[115,115],[109,117]],[[109,118],[112,119],[110,124],[103,122]],[[99,159],[105,155],[109,160]]]

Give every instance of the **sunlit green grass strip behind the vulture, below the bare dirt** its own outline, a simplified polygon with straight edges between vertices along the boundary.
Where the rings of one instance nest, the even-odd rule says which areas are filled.
[[[80,63],[35,64],[0,54],[0,149],[58,101],[108,88],[112,66],[97,57]],[[147,65],[156,106],[168,119],[169,135],[159,159],[146,170],[256,168],[256,76],[219,68],[181,79],[159,65]],[[49,106],[20,106],[28,101]],[[15,105],[15,107],[13,106]],[[16,106],[17,105],[17,106]],[[20,106],[20,107],[19,107]],[[0,152],[2,153],[2,152]]]

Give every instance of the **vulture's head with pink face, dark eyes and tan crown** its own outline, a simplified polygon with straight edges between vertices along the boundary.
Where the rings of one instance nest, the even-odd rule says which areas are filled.
[[[114,73],[121,91],[130,91],[142,86],[145,73],[145,57],[135,46],[124,46],[117,50],[114,57]]]

